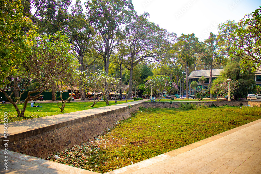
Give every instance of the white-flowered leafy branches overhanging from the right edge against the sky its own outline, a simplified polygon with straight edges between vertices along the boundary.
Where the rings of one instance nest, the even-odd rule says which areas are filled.
[[[248,69],[249,66],[257,69],[261,65],[261,7],[246,14],[239,22],[239,26],[228,36],[233,38],[229,43],[231,46],[223,46],[231,57],[238,56],[241,65]],[[235,57],[236,58],[236,57]]]

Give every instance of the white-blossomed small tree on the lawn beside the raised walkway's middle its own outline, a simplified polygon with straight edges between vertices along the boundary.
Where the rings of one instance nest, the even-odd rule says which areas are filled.
[[[111,90],[113,81],[114,78],[107,76],[103,71],[86,75],[83,79],[82,88],[85,89],[85,92],[90,91],[92,94],[93,104],[90,107],[93,107],[100,99],[106,97],[105,93]]]

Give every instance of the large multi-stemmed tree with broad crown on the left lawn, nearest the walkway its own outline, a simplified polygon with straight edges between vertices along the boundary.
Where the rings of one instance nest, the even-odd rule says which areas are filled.
[[[8,85],[0,86],[0,91],[4,93],[5,97],[15,107],[18,117],[23,117],[27,103],[31,100],[40,97],[40,94],[50,87],[50,84],[54,81],[63,79],[67,76],[67,72],[74,69],[72,64],[73,55],[72,45],[68,43],[68,38],[62,35],[61,32],[56,32],[54,35],[37,35],[33,39],[33,45],[31,46],[31,54],[27,56],[27,59],[16,64],[16,74],[8,74],[10,83]],[[32,82],[32,80],[39,82],[39,87],[28,91],[27,97],[23,104],[22,110],[17,106],[17,101],[20,100],[24,89],[26,89]],[[14,81],[19,82],[19,86],[12,83]],[[14,102],[11,95],[6,91],[17,91],[19,99]],[[34,94],[37,93],[38,94]],[[32,95],[32,96],[31,96]]]

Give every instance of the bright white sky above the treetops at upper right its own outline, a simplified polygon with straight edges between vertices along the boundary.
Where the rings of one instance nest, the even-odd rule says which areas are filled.
[[[200,41],[226,20],[238,22],[246,13],[258,9],[261,0],[132,0],[138,14],[150,14],[150,21],[168,32],[191,34]]]

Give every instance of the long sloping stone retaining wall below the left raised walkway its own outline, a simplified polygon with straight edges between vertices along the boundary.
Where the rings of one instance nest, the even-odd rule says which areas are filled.
[[[46,158],[56,151],[62,151],[102,134],[118,121],[131,117],[131,113],[139,110],[139,106],[142,106],[142,103],[132,105],[132,108],[127,106],[87,116],[78,121],[73,120],[52,125],[52,127],[44,127],[41,128],[42,133],[39,134],[34,134],[39,132],[35,129],[35,131],[23,133],[24,135],[8,136],[8,150]],[[19,140],[17,137],[20,137]],[[0,148],[4,149],[4,146],[1,145]]]

